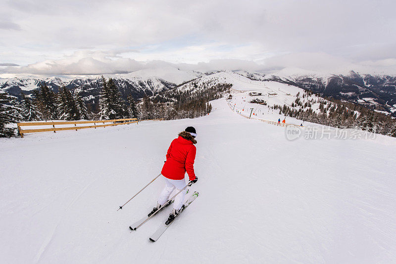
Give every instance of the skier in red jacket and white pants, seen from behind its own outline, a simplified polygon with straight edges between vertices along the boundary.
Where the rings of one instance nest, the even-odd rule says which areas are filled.
[[[166,161],[162,167],[161,174],[165,180],[165,187],[159,195],[157,206],[154,207],[150,215],[154,214],[158,209],[165,205],[169,196],[176,188],[176,191],[183,189],[186,186],[184,179],[185,173],[189,175],[189,179],[194,183],[197,182],[198,177],[194,173],[194,160],[197,152],[197,140],[195,137],[197,132],[195,128],[188,127],[185,131],[179,133],[179,137],[173,139],[166,153]],[[166,221],[171,222],[184,209],[183,200],[187,193],[184,189],[176,197],[173,203],[172,213]]]

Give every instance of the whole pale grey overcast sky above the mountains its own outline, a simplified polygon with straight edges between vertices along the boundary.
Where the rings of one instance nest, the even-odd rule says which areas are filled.
[[[396,74],[395,0],[1,0],[0,7],[2,74],[158,65]]]

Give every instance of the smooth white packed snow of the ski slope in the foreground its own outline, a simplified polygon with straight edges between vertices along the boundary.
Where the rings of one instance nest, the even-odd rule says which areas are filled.
[[[396,262],[395,138],[290,141],[225,99],[212,105],[197,119],[0,139],[1,263]],[[187,126],[199,197],[152,243],[171,208],[128,227],[162,179],[116,210]]]

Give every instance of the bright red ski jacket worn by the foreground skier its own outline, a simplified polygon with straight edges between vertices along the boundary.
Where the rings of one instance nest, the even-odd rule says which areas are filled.
[[[197,148],[191,140],[179,135],[173,139],[166,153],[166,162],[161,174],[168,179],[184,179],[187,171],[189,179],[195,179],[194,160]]]

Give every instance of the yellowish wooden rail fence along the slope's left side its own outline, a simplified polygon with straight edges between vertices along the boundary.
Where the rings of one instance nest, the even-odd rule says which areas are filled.
[[[128,122],[125,122],[128,121]],[[119,123],[116,123],[119,122]],[[97,125],[96,123],[103,123],[103,125]],[[104,124],[104,123],[112,123],[112,124]],[[90,128],[105,128],[109,126],[117,126],[117,125],[127,125],[132,123],[138,123],[137,118],[123,118],[123,119],[111,119],[111,120],[93,120],[93,121],[49,121],[49,122],[20,122],[17,123],[18,131],[23,137],[25,133],[34,133],[34,132],[49,132],[53,131],[62,131],[62,130],[79,130],[79,129],[90,129]],[[77,127],[77,124],[94,124],[93,126],[81,126]],[[55,128],[55,125],[74,125],[74,127],[63,127],[63,128]],[[47,129],[21,129],[21,127],[28,126],[52,126],[52,128]]]

